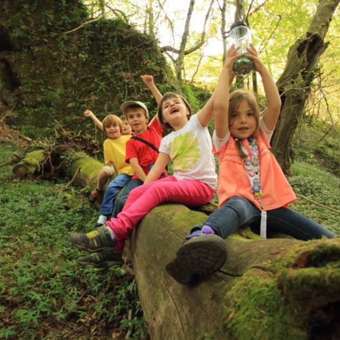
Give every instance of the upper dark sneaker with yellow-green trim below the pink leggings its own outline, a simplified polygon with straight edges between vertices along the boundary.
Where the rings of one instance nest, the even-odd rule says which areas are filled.
[[[106,226],[101,226],[87,234],[72,234],[71,242],[81,250],[95,253],[98,251],[112,251],[116,242],[112,240],[110,231]]]

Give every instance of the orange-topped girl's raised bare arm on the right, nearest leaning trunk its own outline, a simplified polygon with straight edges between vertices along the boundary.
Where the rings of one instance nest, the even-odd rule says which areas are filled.
[[[269,71],[264,66],[263,62],[257,56],[257,52],[253,45],[247,48],[248,54],[246,56],[252,59],[255,64],[255,70],[260,74],[262,78],[265,98],[267,100],[267,110],[263,115],[263,121],[265,126],[269,130],[274,130],[275,125],[279,119],[281,109],[281,98],[278,88],[271,78]]]

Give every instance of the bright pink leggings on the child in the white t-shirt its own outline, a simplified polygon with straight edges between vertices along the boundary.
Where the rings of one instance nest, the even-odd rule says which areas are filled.
[[[111,228],[116,237],[117,252],[122,252],[125,240],[129,238],[135,226],[153,208],[163,202],[182,203],[197,207],[211,200],[214,194],[208,184],[198,180],[177,180],[168,176],[134,188],[129,193],[123,211],[117,218],[105,224]]]

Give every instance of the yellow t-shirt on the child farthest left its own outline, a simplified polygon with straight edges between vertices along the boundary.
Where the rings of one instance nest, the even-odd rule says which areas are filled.
[[[125,163],[125,144],[130,138],[130,135],[126,135],[116,140],[104,141],[104,162],[105,164],[113,162],[118,174],[133,175],[130,164]]]

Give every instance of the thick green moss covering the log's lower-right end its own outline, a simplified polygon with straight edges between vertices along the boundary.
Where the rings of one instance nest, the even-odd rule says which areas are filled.
[[[338,240],[314,240],[248,269],[228,287],[228,337],[309,338],[313,310],[335,303],[340,295],[339,254]]]

